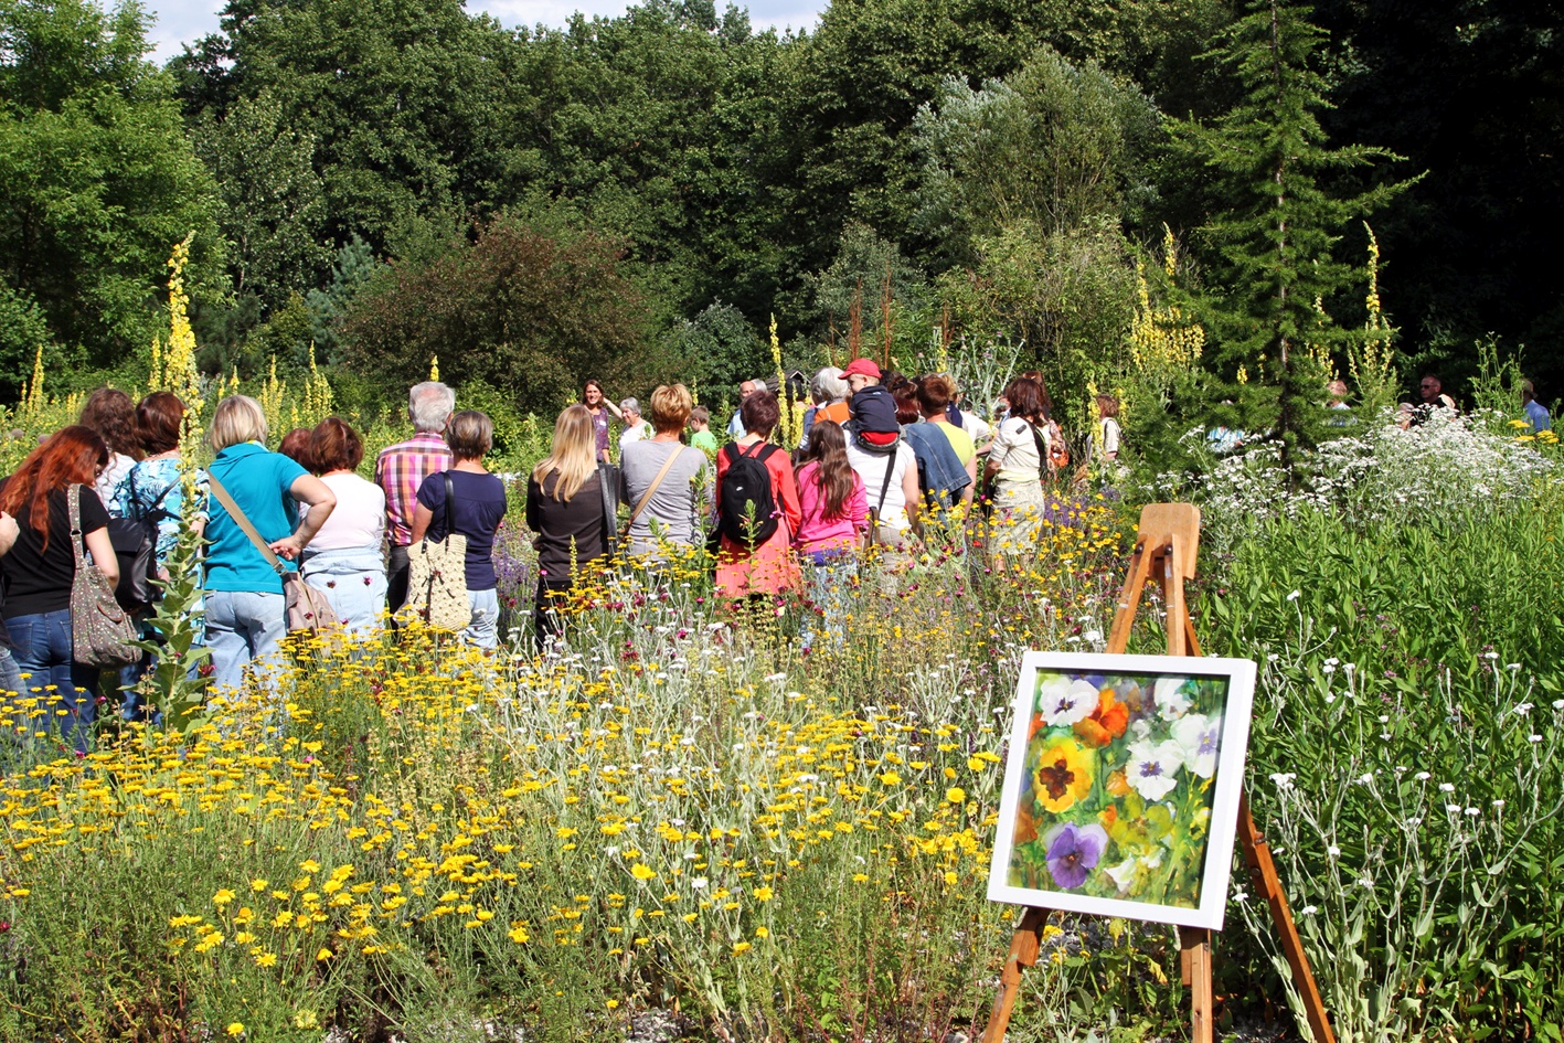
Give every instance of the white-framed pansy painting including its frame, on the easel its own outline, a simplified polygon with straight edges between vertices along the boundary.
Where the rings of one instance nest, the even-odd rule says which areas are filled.
[[[1028,652],[988,898],[1221,929],[1254,663]]]

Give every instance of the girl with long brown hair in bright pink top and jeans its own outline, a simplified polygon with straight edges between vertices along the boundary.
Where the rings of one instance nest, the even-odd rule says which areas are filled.
[[[823,629],[840,644],[848,607],[859,580],[857,549],[870,525],[863,478],[848,463],[848,439],[832,421],[816,419],[809,432],[809,463],[798,471],[798,500],[804,521],[793,547],[804,558],[809,599]],[[804,651],[815,633],[805,619]]]

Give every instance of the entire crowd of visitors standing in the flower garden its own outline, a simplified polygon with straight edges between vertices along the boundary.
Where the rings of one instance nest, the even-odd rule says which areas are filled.
[[[1526,416],[1541,430],[1547,411],[1526,391]],[[981,525],[987,563],[1004,568],[1006,555],[1035,544],[1049,482],[1070,466],[1037,372],[1009,382],[993,422],[967,407],[949,375],[910,378],[868,358],[818,371],[785,425],[785,402],[768,382],[744,382],[740,392],[723,441],[680,383],[658,386],[643,414],[637,399],[615,403],[588,380],[582,400],[560,413],[526,488],[541,644],[561,636],[571,591],[599,560],[655,569],[701,547],[715,558],[719,597],[754,604],[802,593],[815,608],[805,647],[840,641],[866,560],[879,582],[895,582],[924,547],[959,550]],[[1408,422],[1455,410],[1436,377],[1422,382],[1420,399]],[[341,418],[288,432],[272,452],[261,405],[230,396],[206,432],[211,463],[191,469],[177,396],[158,391],[138,403],[99,389],[78,424],[45,438],[0,482],[0,690],[53,690],[61,730],[78,749],[99,702],[133,719],[155,713],[138,691],[155,654],[127,663],[117,691],[103,691],[111,674],[80,663],[72,647],[78,568],[119,583],[111,532],[125,522],[150,533],[163,579],[181,532],[202,538],[202,600],[192,610],[219,690],[238,686],[252,665],[278,661],[296,577],[350,636],[430,611],[422,588],[410,588],[416,552],[430,544],[460,547],[461,638],[494,647],[493,557],[507,489],[483,464],[493,422],[455,405],[443,383],[411,388],[413,435],[378,453],[371,480],[358,474],[364,443]],[[1118,402],[1099,396],[1096,414],[1084,449],[1112,463],[1123,438]],[[798,432],[796,444],[780,444],[780,430]],[[149,607],[139,608],[139,636],[155,646]]]

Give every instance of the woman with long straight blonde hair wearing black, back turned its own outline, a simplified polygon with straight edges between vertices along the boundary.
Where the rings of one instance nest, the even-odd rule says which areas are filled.
[[[597,436],[585,405],[571,405],[554,424],[554,444],[527,482],[527,527],[538,533],[538,641],[563,635],[555,602],[569,594],[582,566],[608,554],[612,483],[597,471]],[[574,569],[574,571],[572,571]]]

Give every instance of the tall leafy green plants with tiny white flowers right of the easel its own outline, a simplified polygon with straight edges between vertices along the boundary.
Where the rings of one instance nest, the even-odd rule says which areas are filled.
[[[1262,663],[1250,791],[1342,1040],[1558,1038],[1561,505],[1298,511],[1206,569],[1207,651]]]

